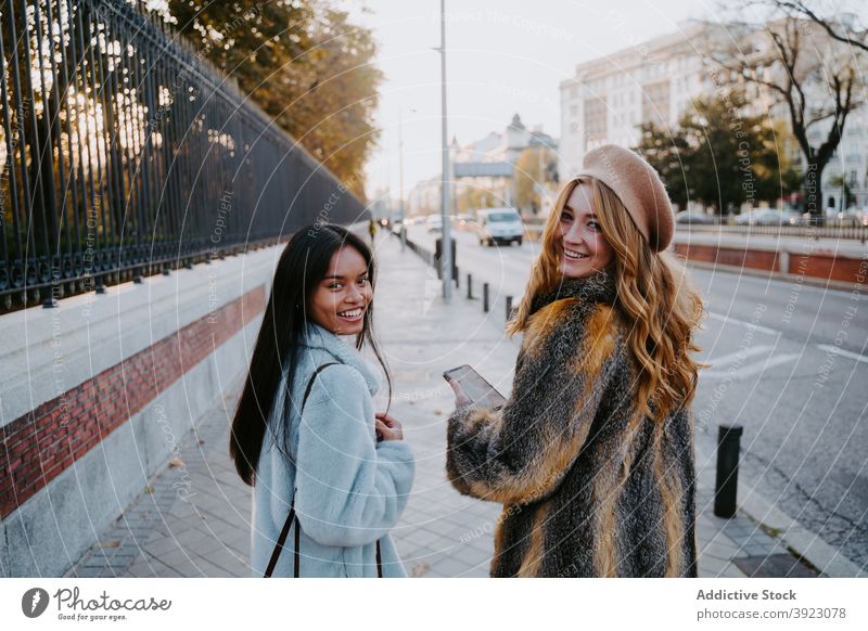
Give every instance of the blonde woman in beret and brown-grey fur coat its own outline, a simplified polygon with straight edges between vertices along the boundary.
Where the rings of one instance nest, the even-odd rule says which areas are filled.
[[[503,504],[496,577],[697,575],[693,426],[703,313],[664,252],[656,171],[589,152],[556,203],[524,298],[512,395],[495,411],[456,387],[447,472]]]

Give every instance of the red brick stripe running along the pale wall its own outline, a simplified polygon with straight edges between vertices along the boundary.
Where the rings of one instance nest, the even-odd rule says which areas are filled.
[[[241,331],[265,301],[259,285],[0,428],[0,518]]]

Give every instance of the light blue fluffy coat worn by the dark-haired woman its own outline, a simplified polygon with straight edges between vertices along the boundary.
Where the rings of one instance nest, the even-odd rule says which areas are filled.
[[[292,459],[275,441],[282,407],[275,405],[256,472],[253,506],[253,575],[268,566],[290,504],[302,525],[301,576],[375,577],[380,540],[383,576],[407,576],[390,530],[398,523],[412,486],[416,465],[404,440],[376,442],[373,396],[381,377],[349,344],[310,324],[292,389]],[[302,398],[317,375],[303,414]],[[282,401],[281,382],[277,401]],[[278,435],[279,436],[279,435]],[[295,526],[273,576],[293,576]]]

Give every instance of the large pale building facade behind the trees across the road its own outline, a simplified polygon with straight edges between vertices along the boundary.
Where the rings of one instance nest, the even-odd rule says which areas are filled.
[[[743,39],[742,39],[743,38]],[[727,51],[733,40],[749,54],[775,54],[764,31],[702,21],[679,24],[675,34],[661,36],[611,55],[576,66],[573,77],[561,82],[561,143],[559,169],[563,177],[579,170],[585,154],[601,144],[634,147],[640,125],[653,121],[673,129],[694,99],[726,90],[727,77],[719,64],[703,51]],[[745,47],[750,47],[745,49]],[[819,87],[818,89],[821,89]],[[786,105],[767,89],[745,86],[752,115],[786,121]],[[817,99],[828,98],[817,93]],[[824,205],[843,206],[841,176],[847,182],[851,206],[868,207],[868,108],[863,105],[847,118],[832,162],[824,171]],[[818,146],[829,124],[812,128],[809,140]],[[802,160],[796,146],[787,150]]]

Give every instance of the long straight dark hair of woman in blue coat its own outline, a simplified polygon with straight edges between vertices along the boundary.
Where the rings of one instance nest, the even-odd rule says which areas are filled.
[[[290,392],[301,343],[308,326],[306,314],[310,311],[314,292],[329,271],[332,255],[343,245],[352,246],[365,258],[373,291],[376,281],[373,254],[361,239],[341,226],[315,223],[302,228],[280,255],[271,295],[253,349],[251,369],[232,418],[232,434],[229,437],[229,455],[234,461],[241,479],[250,486],[256,482],[256,468],[272,407],[282,404],[286,412],[283,414],[284,422],[289,423],[289,410],[292,405],[302,404],[302,401],[292,401]],[[391,401],[392,377],[373,339],[372,329],[373,310],[369,307],[365,312],[361,333],[356,336],[356,348],[360,350],[367,344],[373,350],[385,373]],[[283,400],[276,401],[283,374],[286,375]],[[273,432],[276,436],[282,436],[283,452],[289,454],[289,428],[276,427]]]

